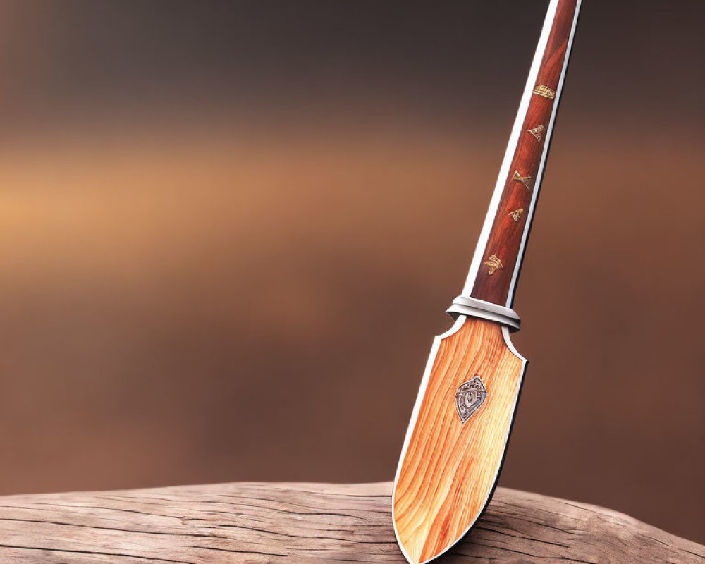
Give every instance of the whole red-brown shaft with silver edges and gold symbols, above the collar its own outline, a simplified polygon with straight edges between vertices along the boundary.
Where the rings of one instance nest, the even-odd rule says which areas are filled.
[[[553,8],[555,7],[555,11]],[[580,0],[554,0],[464,295],[511,307],[543,175]],[[550,26],[550,27],[549,27]],[[535,78],[534,78],[535,77]],[[528,104],[526,104],[528,101]],[[519,128],[520,127],[520,128]],[[519,128],[517,130],[517,128]],[[509,164],[509,166],[507,166]]]

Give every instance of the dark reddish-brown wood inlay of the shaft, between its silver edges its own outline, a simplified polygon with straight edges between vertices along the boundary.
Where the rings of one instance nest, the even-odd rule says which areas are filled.
[[[551,33],[544,51],[536,87],[558,89],[560,73],[568,51],[577,0],[560,0],[553,18]],[[537,175],[544,144],[547,142],[549,121],[555,101],[541,94],[533,94],[522,125],[515,154],[505,180],[497,213],[492,223],[483,262],[492,262],[494,255],[501,260],[501,267],[491,269],[483,264],[477,271],[472,287],[472,297],[498,305],[508,302],[509,292],[524,233],[530,227],[529,209],[534,190],[538,190]],[[543,131],[541,131],[543,128]],[[531,178],[522,181],[521,178]],[[527,185],[528,184],[528,185]]]

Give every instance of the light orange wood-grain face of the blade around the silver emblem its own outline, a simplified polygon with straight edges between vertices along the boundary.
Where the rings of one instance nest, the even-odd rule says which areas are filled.
[[[525,366],[502,327],[482,319],[460,317],[434,350],[394,488],[397,537],[415,564],[446,551],[482,513],[501,467]],[[462,423],[455,393],[474,376],[482,379],[486,398]]]

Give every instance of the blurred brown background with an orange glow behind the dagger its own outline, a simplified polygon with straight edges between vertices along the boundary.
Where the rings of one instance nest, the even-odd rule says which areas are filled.
[[[0,494],[393,477],[544,0],[0,4]],[[584,3],[501,484],[705,541],[701,1]]]

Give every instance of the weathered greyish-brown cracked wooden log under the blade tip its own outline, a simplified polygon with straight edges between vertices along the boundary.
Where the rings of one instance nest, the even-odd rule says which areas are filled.
[[[405,563],[391,484],[217,484],[0,498],[0,563]],[[444,564],[702,564],[615,511],[498,488]]]

